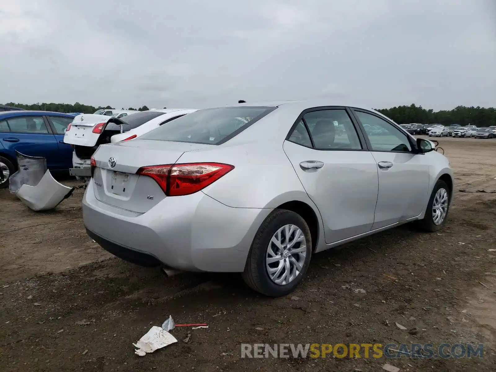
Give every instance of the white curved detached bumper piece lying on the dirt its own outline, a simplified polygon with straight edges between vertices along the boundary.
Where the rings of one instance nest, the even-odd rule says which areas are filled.
[[[34,211],[55,208],[62,200],[72,195],[75,187],[68,187],[57,182],[50,171],[46,171],[38,185],[22,185],[17,190],[17,197]]]

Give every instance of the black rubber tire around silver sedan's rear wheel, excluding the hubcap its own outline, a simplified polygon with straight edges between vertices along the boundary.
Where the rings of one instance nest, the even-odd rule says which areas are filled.
[[[277,284],[269,276],[268,265],[271,265],[270,267],[274,268],[274,270],[278,267],[278,265],[283,265],[278,270],[280,271],[282,269],[283,272],[281,272],[281,274],[284,274],[286,272],[286,262],[288,262],[288,264],[291,263],[292,265],[290,267],[290,273],[295,274],[294,270],[296,270],[296,266],[292,263],[293,261],[289,257],[281,258],[280,260],[270,262],[269,264],[267,264],[266,262],[266,258],[269,255],[269,246],[272,249],[272,252],[276,254],[276,256],[283,256],[277,246],[274,243],[271,243],[271,240],[279,229],[284,228],[287,225],[296,226],[298,229],[300,229],[302,235],[305,237],[305,256],[302,256],[303,251],[301,253],[293,254],[289,253],[288,251],[286,254],[289,253],[289,255],[295,260],[299,260],[302,269],[300,270],[299,274],[295,275],[294,279],[289,281],[289,283]],[[282,235],[285,235],[284,231],[282,232],[281,236]],[[290,237],[294,237],[294,233],[291,234]],[[283,241],[286,242],[285,240]],[[302,248],[302,245],[302,242],[297,242],[293,249],[298,250],[299,248]],[[256,292],[270,297],[285,296],[291,293],[304,279],[310,264],[311,247],[312,244],[310,229],[305,220],[299,214],[293,211],[289,211],[286,209],[276,209],[263,221],[260,228],[258,229],[255,238],[253,239],[253,243],[251,244],[247,263],[245,265],[245,271],[243,272],[242,277],[245,280],[245,283]],[[284,278],[284,275],[280,277]],[[278,278],[276,277],[276,279]],[[282,283],[284,283],[284,281],[282,281]]]

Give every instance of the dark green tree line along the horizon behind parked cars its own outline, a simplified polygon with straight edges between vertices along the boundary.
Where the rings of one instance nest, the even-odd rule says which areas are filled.
[[[93,114],[97,110],[113,109],[112,106],[88,106],[78,102],[75,104],[66,103],[35,103],[32,105],[24,105],[21,103],[6,103],[7,106],[15,106],[26,110],[39,110],[39,111],[54,111],[61,113],[83,113]],[[165,109],[165,107],[164,107]],[[122,110],[126,110],[122,108]],[[145,105],[138,109],[133,107],[127,110],[146,111],[149,110]],[[466,107],[457,106],[453,110],[435,111],[432,109],[424,109],[422,106],[411,104],[410,106],[398,106],[390,109],[376,109],[388,118],[391,118],[398,124],[459,124],[459,125],[476,125],[476,126],[490,126],[496,125],[496,108],[484,107]]]

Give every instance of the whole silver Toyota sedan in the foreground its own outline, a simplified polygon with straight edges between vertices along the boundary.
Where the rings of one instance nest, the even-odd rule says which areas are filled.
[[[87,233],[131,262],[240,272],[283,296],[316,252],[410,221],[439,230],[448,159],[374,110],[331,105],[199,110],[101,145],[83,199]]]

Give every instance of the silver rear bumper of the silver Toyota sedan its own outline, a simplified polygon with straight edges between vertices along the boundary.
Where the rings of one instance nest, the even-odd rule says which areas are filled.
[[[242,272],[270,211],[228,207],[199,191],[139,214],[97,200],[92,180],[83,197],[84,225],[103,248],[143,266],[185,271]]]

